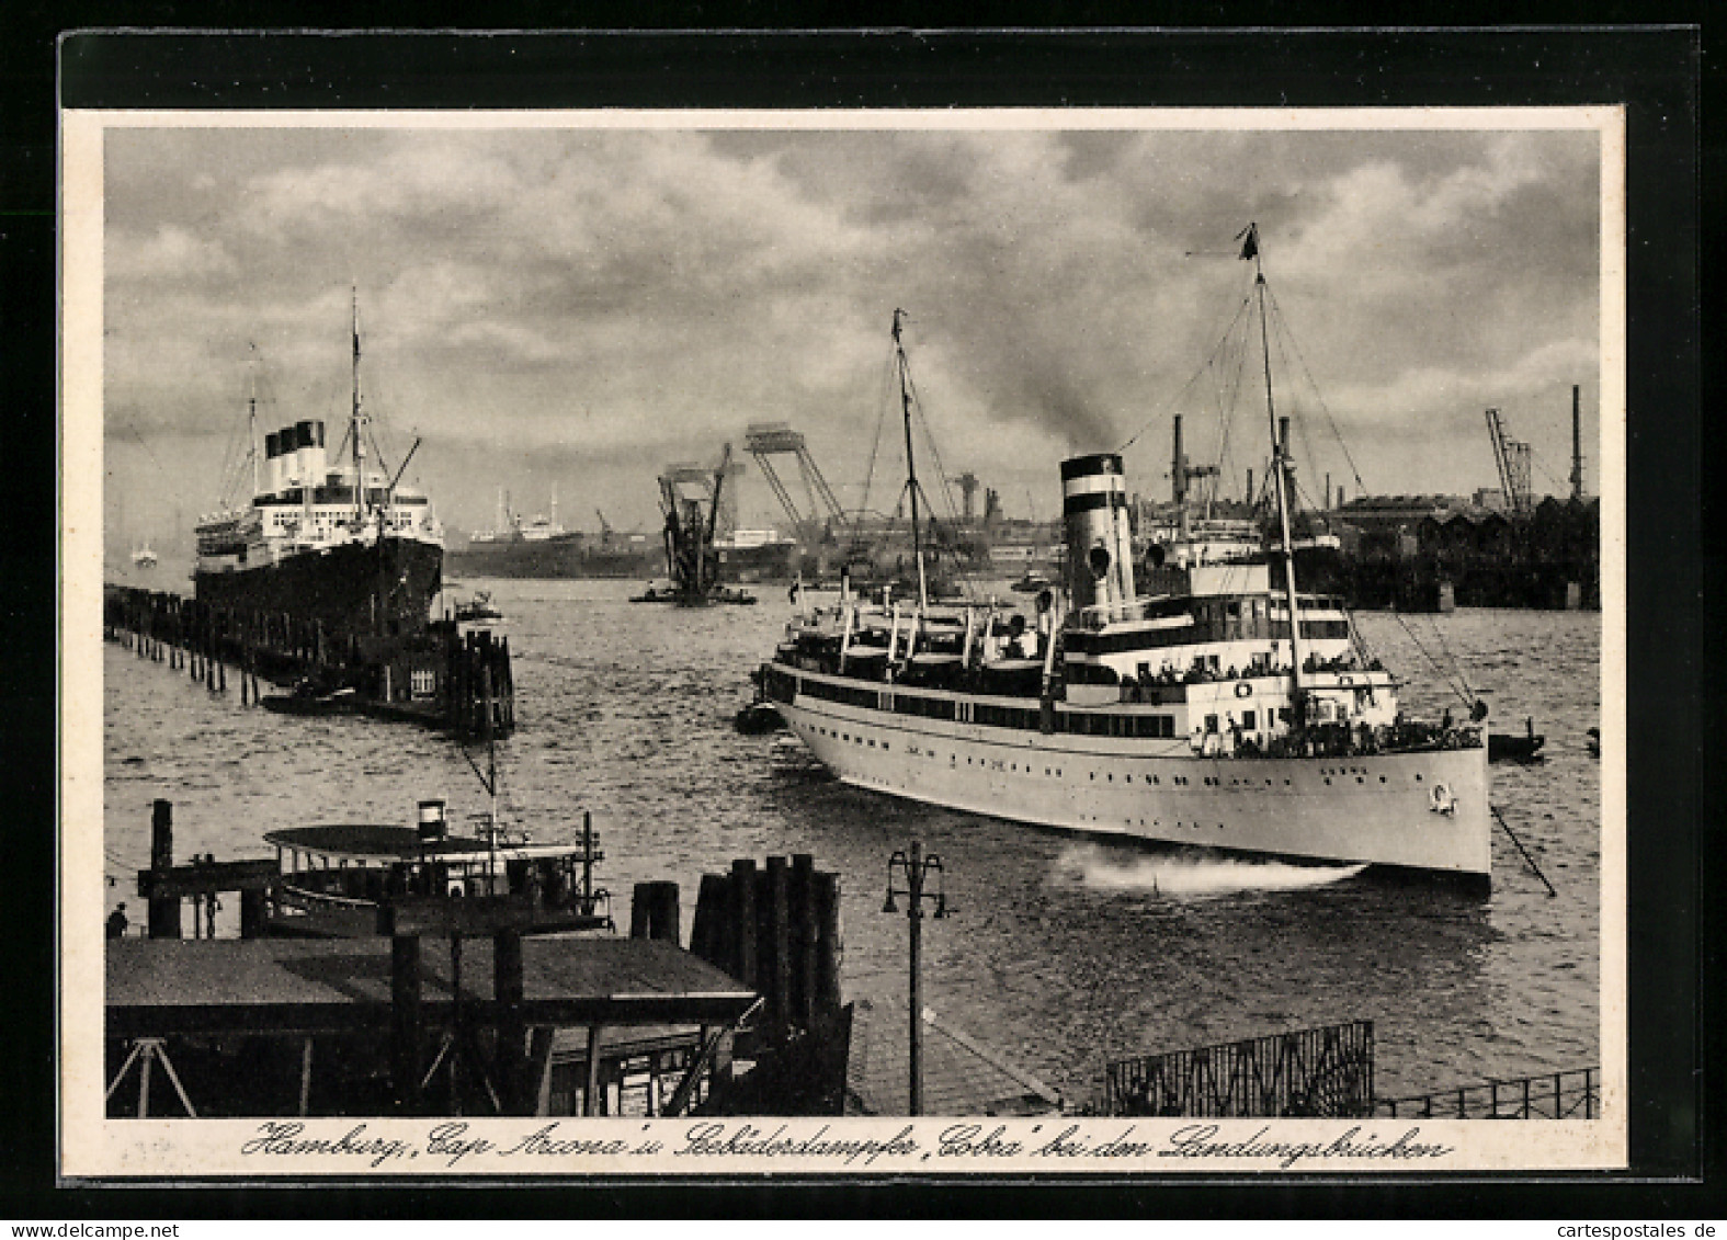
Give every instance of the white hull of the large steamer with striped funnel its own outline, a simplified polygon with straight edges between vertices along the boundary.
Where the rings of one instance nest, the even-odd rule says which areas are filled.
[[[774,705],[810,751],[857,788],[1066,831],[1482,881],[1490,872],[1483,746],[1205,758],[1185,741],[1045,736],[807,694]]]

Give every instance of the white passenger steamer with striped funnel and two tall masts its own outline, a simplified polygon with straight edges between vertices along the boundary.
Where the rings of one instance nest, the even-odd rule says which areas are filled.
[[[1264,271],[1256,264],[1264,345]],[[901,376],[900,313],[893,337]],[[1064,589],[1031,618],[841,594],[791,620],[762,694],[839,779],[1105,836],[1456,876],[1490,870],[1478,718],[1414,722],[1335,599],[1300,594],[1287,446],[1266,413],[1280,530],[1214,560],[1154,547],[1135,572],[1119,454],[1060,466]],[[905,395],[910,427],[910,395]],[[917,522],[914,496],[914,527]],[[922,546],[917,546],[922,579]],[[1143,591],[1142,591],[1143,587]]]

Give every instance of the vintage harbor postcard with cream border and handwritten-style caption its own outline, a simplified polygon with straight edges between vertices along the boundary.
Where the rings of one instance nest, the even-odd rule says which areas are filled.
[[[69,1171],[1625,1164],[1616,111],[64,159]]]

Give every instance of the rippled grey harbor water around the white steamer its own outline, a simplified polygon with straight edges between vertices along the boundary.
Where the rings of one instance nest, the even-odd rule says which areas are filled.
[[[1485,691],[1492,731],[1534,717],[1547,736],[1544,762],[1494,765],[1492,786],[1558,896],[1496,829],[1483,898],[846,788],[786,734],[732,729],[791,615],[784,587],[710,610],[630,604],[636,582],[465,587],[492,592],[515,656],[503,819],[568,841],[592,812],[623,924],[636,883],[672,879],[687,941],[701,874],[812,853],[841,877],[846,998],[903,1003],[907,919],[882,896],[888,857],[919,839],[943,860],[953,910],[924,924],[926,1007],[1071,1104],[1100,1093],[1110,1059],[1354,1019],[1375,1022],[1380,1097],[1599,1060],[1601,770],[1584,741],[1599,724],[1599,613],[1359,617],[1408,677],[1408,712],[1461,715],[1449,677]],[[107,903],[126,900],[135,926],[155,798],[174,803],[176,860],[264,857],[276,827],[408,824],[425,796],[447,796],[456,826],[485,810],[468,760],[484,769],[484,751],[413,725],[273,715],[242,706],[237,684],[212,694],[112,644],[104,696]]]

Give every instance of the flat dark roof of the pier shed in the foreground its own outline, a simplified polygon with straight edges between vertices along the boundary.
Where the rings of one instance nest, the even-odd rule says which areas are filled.
[[[107,1033],[342,1033],[390,1024],[390,939],[112,939]],[[492,1019],[492,945],[465,939],[461,1003]],[[451,1007],[451,952],[421,941],[421,1007]],[[525,938],[527,1026],[725,1024],[755,991],[656,939]]]

